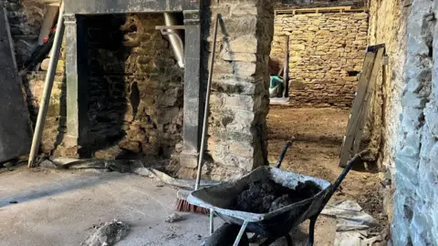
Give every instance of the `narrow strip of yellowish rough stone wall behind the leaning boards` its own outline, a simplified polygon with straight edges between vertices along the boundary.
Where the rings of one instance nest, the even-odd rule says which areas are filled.
[[[398,128],[406,59],[407,9],[403,5],[401,0],[370,2],[370,44],[385,44],[389,62],[377,77],[367,127],[370,129],[370,158],[377,160],[381,169],[383,210],[390,221],[396,172],[393,157],[400,145]]]

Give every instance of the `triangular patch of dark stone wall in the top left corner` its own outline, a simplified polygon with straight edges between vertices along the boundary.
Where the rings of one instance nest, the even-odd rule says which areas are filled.
[[[47,6],[35,0],[2,0],[5,5],[16,51],[16,63],[21,67],[37,45],[39,30]]]

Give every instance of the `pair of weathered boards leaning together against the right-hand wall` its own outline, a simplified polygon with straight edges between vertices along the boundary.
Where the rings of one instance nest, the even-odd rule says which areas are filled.
[[[349,115],[346,135],[339,155],[339,166],[344,167],[359,151],[363,128],[367,121],[370,99],[381,68],[385,46],[369,46],[360,73],[358,90]]]

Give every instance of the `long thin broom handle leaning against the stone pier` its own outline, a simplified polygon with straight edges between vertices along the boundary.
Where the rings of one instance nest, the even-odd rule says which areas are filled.
[[[201,170],[203,169],[203,151],[205,149],[205,135],[206,135],[207,123],[208,123],[208,105],[210,104],[210,90],[212,88],[212,80],[213,80],[213,67],[214,67],[214,55],[216,53],[216,36],[217,36],[218,19],[219,19],[219,15],[216,15],[216,18],[214,20],[213,47],[212,47],[212,54],[210,55],[207,93],[205,95],[205,106],[204,106],[205,108],[203,109],[203,133],[201,135],[201,147],[199,149],[198,171],[196,173],[196,183],[194,185],[194,190],[199,189],[199,183],[201,182]]]

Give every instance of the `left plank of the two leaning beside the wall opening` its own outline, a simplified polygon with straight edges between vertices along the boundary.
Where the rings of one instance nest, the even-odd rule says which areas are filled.
[[[362,72],[360,74],[359,86],[354,98],[353,106],[349,115],[349,124],[347,125],[346,135],[342,143],[342,149],[340,150],[339,166],[343,167],[349,161],[352,154],[352,145],[354,142],[354,131],[357,128],[360,121],[360,108],[362,108],[363,100],[366,96],[370,82],[370,73],[373,67],[375,53],[367,52],[363,62]]]

